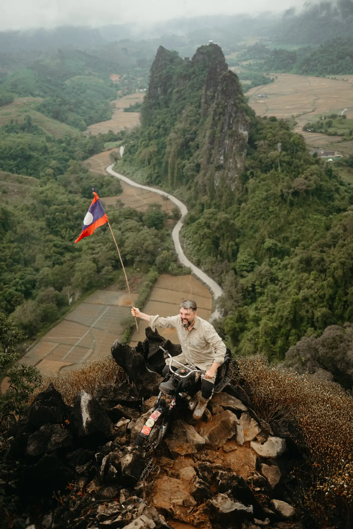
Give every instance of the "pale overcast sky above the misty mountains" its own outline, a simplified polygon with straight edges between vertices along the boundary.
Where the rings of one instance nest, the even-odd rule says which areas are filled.
[[[179,16],[259,13],[304,0],[0,0],[0,30],[57,25],[148,24]],[[1,50],[0,50],[1,51]]]

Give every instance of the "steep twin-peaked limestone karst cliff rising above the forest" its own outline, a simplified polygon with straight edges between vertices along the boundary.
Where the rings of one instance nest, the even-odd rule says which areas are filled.
[[[152,182],[194,184],[197,194],[211,198],[227,194],[244,167],[253,115],[218,45],[198,48],[192,60],[160,47],[135,161],[148,161]]]

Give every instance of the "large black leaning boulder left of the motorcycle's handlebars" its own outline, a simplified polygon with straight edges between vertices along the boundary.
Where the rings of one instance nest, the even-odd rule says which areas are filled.
[[[118,340],[112,345],[112,355],[117,363],[128,375],[139,391],[140,397],[149,398],[158,395],[158,386],[163,378],[158,373],[147,370],[146,362],[141,353],[128,344],[122,345]]]

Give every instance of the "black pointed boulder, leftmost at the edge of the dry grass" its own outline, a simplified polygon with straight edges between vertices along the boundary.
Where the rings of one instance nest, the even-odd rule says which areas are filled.
[[[48,388],[33,400],[29,409],[29,424],[35,428],[47,423],[61,424],[67,411],[68,407],[62,400],[61,394],[51,382]]]

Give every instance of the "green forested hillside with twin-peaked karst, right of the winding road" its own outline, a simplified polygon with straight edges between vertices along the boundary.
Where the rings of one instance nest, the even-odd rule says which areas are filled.
[[[185,249],[224,288],[233,349],[278,360],[351,320],[353,190],[285,122],[254,116],[219,47],[158,51],[122,165],[187,201]]]

